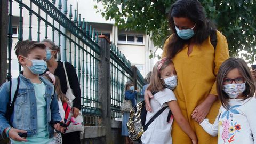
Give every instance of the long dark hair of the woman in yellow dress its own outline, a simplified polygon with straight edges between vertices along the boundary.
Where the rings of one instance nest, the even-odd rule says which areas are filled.
[[[206,19],[204,8],[201,3],[197,0],[178,0],[172,6],[169,12],[168,20],[169,26],[172,29],[173,35],[167,45],[167,57],[173,58],[185,44],[190,43],[190,39],[181,39],[175,30],[175,25],[173,17],[185,17],[196,23],[194,29],[195,35],[192,37],[193,42],[196,44],[201,44],[209,35],[215,26],[212,22]]]

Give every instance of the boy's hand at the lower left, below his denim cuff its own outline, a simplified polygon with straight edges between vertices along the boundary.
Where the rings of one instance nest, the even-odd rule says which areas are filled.
[[[4,130],[4,132],[6,133],[6,135],[9,135],[10,139],[15,140],[15,141],[28,141],[28,140],[26,140],[26,138],[22,138],[19,135],[19,133],[27,133],[27,131],[15,129],[15,128],[11,128],[9,131],[7,131],[7,129],[9,129],[9,128],[6,128]],[[7,134],[7,132],[8,132],[8,134]]]

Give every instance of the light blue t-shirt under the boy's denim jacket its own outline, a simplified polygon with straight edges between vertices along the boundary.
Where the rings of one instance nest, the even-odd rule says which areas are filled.
[[[27,137],[27,142],[13,141],[12,143],[50,143],[53,138],[49,139],[47,130],[47,108],[45,99],[45,84],[41,81],[41,84],[32,83],[36,95],[36,109],[37,109],[37,134],[32,137]]]

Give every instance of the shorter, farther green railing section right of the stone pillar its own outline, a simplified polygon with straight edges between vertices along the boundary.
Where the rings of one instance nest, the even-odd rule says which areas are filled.
[[[111,44],[111,116],[114,118],[122,118],[120,111],[121,103],[124,99],[124,87],[126,82],[135,81],[137,89],[142,90],[143,76],[138,69],[135,70],[137,79],[134,80],[134,72],[131,69],[131,63],[118,48]],[[140,95],[140,93],[138,93]],[[138,99],[137,99],[138,101]]]

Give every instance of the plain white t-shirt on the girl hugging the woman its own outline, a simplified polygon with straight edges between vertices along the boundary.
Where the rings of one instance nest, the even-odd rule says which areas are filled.
[[[157,111],[164,106],[167,106],[166,102],[176,100],[174,93],[170,89],[164,89],[154,95],[154,98],[150,99],[150,105],[152,108],[151,113],[147,113],[146,124],[153,117]],[[172,143],[171,130],[173,117],[170,122],[167,122],[167,116],[169,113],[167,107],[162,114],[160,114],[149,126],[148,129],[142,134],[142,143]]]

